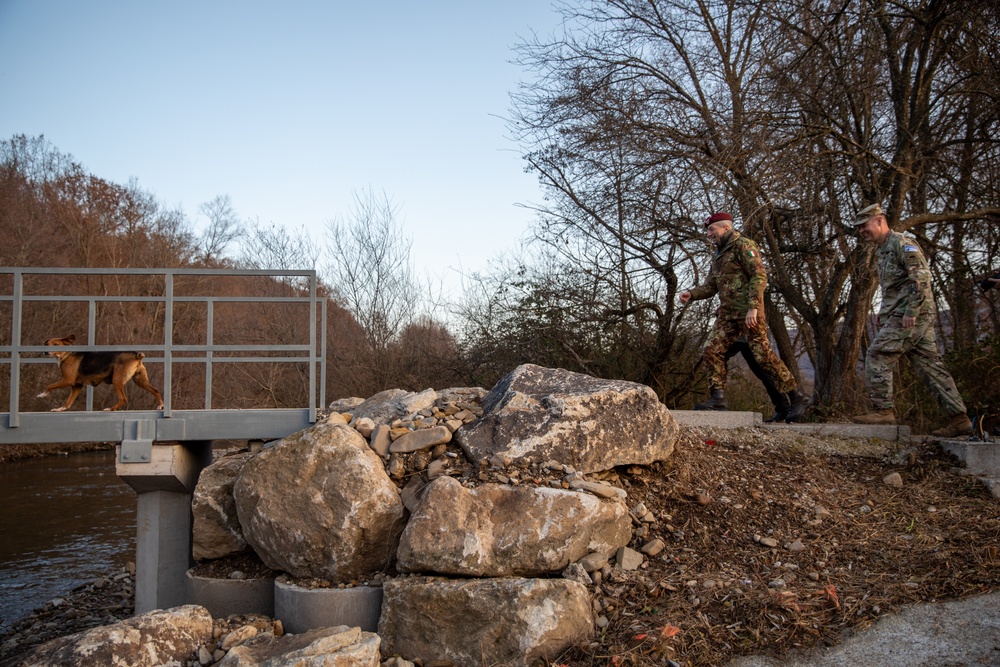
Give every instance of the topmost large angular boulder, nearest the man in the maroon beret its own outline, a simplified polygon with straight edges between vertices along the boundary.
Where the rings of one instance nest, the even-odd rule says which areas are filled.
[[[666,459],[677,434],[645,385],[525,364],[490,390],[482,418],[455,438],[475,463],[555,460],[587,473]]]

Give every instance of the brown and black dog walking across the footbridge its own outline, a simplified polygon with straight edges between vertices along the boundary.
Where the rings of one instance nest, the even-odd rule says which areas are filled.
[[[72,345],[76,341],[76,336],[66,338],[50,338],[45,341],[46,345]],[[63,378],[58,382],[53,382],[45,391],[38,395],[38,398],[45,398],[53,389],[69,387],[69,398],[59,408],[52,408],[52,412],[62,412],[73,405],[73,401],[80,395],[80,390],[84,385],[96,387],[99,384],[111,384],[118,394],[118,402],[108,410],[121,410],[125,407],[125,385],[129,380],[135,383],[156,397],[157,410],[163,409],[163,396],[156,391],[156,387],[149,384],[149,376],[146,374],[146,367],[142,365],[142,359],[146,355],[142,352],[59,352],[58,350],[49,352],[59,360],[59,370],[62,371]]]

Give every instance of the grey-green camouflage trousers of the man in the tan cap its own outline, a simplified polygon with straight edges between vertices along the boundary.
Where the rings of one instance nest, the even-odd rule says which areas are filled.
[[[955,380],[937,349],[934,319],[934,315],[920,315],[915,325],[904,329],[902,317],[892,317],[878,330],[865,355],[865,384],[876,410],[892,409],[892,371],[905,356],[946,414],[965,413]]]

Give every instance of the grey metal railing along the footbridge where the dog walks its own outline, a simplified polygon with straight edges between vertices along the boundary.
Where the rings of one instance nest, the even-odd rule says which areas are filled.
[[[10,366],[10,428],[20,423],[21,367],[23,364],[51,364],[47,353],[51,347],[25,345],[23,326],[26,309],[33,303],[85,303],[88,308],[87,340],[93,341],[97,333],[98,304],[105,303],[153,303],[163,309],[162,343],[123,343],[118,345],[72,345],[63,351],[119,351],[137,349],[143,353],[161,353],[161,356],[147,354],[144,363],[163,364],[163,417],[169,418],[172,411],[173,378],[177,364],[204,364],[205,366],[205,409],[216,409],[212,405],[213,368],[219,364],[231,363],[287,363],[308,364],[308,407],[309,421],[316,421],[318,407],[326,403],[326,300],[317,296],[317,276],[312,270],[256,270],[256,269],[74,269],[74,268],[0,268],[0,277],[5,279],[10,289],[0,292],[0,304],[10,304],[9,345],[0,345],[0,365]],[[25,278],[31,276],[62,275],[115,275],[115,276],[160,276],[163,278],[163,293],[157,295],[58,295],[33,294],[25,290]],[[213,296],[175,294],[175,282],[181,276],[212,278],[270,277],[279,281],[292,282],[291,296]],[[205,305],[205,344],[186,345],[174,342],[174,313],[180,303],[202,303]],[[302,304],[308,308],[308,342],[275,342],[255,345],[221,345],[213,341],[215,335],[215,310],[218,304],[243,303]],[[216,356],[224,353],[227,356]],[[260,354],[260,353],[267,353]],[[240,356],[228,356],[238,354]],[[268,355],[277,356],[268,356]],[[87,387],[86,410],[93,409],[93,392]]]

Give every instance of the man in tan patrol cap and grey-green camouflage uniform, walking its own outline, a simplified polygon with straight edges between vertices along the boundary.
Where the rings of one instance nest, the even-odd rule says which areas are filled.
[[[955,387],[951,373],[941,361],[934,321],[937,308],[931,293],[931,273],[917,242],[889,229],[879,204],[862,209],[854,226],[861,237],[878,244],[878,282],[882,307],[879,330],[865,355],[865,383],[874,412],[854,417],[861,424],[895,424],[892,411],[892,372],[900,357],[907,357],[930,389],[948,422],[934,435],[953,438],[972,432],[972,421]]]

